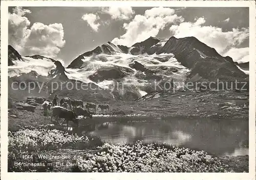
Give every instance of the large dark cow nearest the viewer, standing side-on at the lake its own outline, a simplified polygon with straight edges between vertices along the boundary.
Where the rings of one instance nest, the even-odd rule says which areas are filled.
[[[71,110],[68,110],[60,106],[55,106],[52,108],[51,121],[53,117],[55,117],[55,119],[65,118],[67,122],[67,128],[69,125],[69,121],[73,121],[77,126],[79,125],[78,120],[76,119],[75,113]]]

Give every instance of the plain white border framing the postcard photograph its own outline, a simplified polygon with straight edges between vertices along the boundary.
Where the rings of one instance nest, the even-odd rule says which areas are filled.
[[[7,172],[8,6],[49,7],[249,7],[249,173],[12,173]],[[1,179],[255,179],[255,2],[254,1],[1,1]]]

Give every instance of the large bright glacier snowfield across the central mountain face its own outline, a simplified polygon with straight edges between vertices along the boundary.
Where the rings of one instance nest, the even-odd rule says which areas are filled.
[[[114,47],[112,47],[114,48]],[[117,51],[118,49],[115,49]],[[103,80],[101,82],[95,82],[90,79],[90,76],[95,74],[98,69],[104,68],[117,68],[126,69],[129,71],[126,76],[122,78],[122,85],[133,85],[136,87],[145,86],[148,81],[144,78],[138,78],[138,74],[146,76],[145,72],[140,72],[131,67],[134,61],[141,63],[146,68],[157,68],[166,67],[168,68],[178,68],[177,72],[172,72],[167,74],[168,78],[176,78],[176,80],[184,81],[185,74],[189,72],[189,69],[182,66],[177,59],[174,58],[173,54],[161,54],[161,55],[132,55],[124,53],[116,53],[112,55],[99,54],[86,57],[81,59],[83,64],[80,68],[66,68],[67,76],[69,79],[79,80],[84,83],[94,83],[101,88],[111,88],[116,85],[115,80]],[[164,71],[164,70],[162,70]],[[156,75],[166,75],[163,73],[158,73]],[[140,92],[145,95],[144,92]]]

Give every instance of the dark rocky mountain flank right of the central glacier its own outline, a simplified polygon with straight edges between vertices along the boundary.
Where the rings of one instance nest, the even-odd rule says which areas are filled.
[[[200,42],[195,37],[177,39],[170,37],[156,54],[172,53],[185,67],[191,69],[190,75],[199,75],[203,79],[216,82],[248,81],[230,57],[222,57],[214,48]]]

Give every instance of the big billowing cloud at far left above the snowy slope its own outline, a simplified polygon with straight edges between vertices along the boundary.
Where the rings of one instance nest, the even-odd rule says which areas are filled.
[[[8,43],[22,56],[39,54],[56,57],[65,45],[64,31],[61,23],[45,25],[36,22],[29,29],[30,21],[25,14],[30,10],[16,7],[8,14]]]

